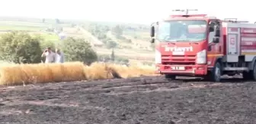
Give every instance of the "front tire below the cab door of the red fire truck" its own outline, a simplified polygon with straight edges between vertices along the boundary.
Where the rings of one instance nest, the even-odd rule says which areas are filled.
[[[220,82],[221,80],[221,75],[222,75],[222,67],[219,64],[219,62],[217,62],[215,64],[215,67],[213,68],[213,72],[210,75],[210,80],[212,82]]]

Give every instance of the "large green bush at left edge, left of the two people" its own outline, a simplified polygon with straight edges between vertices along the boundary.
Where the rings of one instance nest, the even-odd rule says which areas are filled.
[[[28,33],[11,32],[1,35],[0,59],[17,64],[40,63],[40,37]]]

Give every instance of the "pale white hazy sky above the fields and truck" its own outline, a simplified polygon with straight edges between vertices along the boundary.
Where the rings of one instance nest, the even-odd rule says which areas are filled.
[[[256,21],[252,0],[2,0],[0,16],[152,23],[168,17],[172,9],[182,8],[197,8],[197,13],[219,18]]]

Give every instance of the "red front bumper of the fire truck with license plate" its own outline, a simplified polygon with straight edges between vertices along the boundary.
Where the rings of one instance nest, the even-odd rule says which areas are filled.
[[[205,76],[207,65],[165,65],[156,64],[156,73],[181,76]]]

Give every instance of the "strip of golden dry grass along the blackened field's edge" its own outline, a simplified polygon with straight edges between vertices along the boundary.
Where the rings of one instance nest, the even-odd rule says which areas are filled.
[[[154,67],[81,62],[65,64],[0,64],[0,85],[26,85],[94,79],[128,78],[155,75]]]

